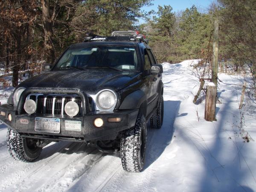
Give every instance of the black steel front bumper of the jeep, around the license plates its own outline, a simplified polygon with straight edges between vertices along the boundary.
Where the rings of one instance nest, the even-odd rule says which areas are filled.
[[[18,114],[11,105],[0,106],[0,120],[8,127],[19,133],[22,137],[33,137],[50,140],[114,140],[120,131],[131,128],[135,125],[138,109],[123,110],[114,113],[87,113],[84,116],[71,118],[69,116],[47,116],[42,114]],[[4,114],[4,116],[3,116]],[[8,120],[11,114],[12,120]],[[60,133],[46,133],[35,131],[35,117],[58,118],[61,120]],[[108,118],[120,117],[120,122],[108,122]],[[102,118],[104,124],[100,128],[93,125],[96,118]],[[65,121],[81,121],[81,131],[70,131],[65,129]]]

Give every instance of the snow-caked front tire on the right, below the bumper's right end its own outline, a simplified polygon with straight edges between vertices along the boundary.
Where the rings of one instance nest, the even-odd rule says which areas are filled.
[[[140,172],[145,161],[147,125],[143,114],[137,116],[133,128],[121,134],[120,154],[122,167],[127,172]]]

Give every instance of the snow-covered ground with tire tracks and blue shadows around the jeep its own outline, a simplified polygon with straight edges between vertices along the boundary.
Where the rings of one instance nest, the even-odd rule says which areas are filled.
[[[0,191],[256,191],[256,142],[239,134],[241,88],[220,84],[217,121],[206,122],[204,104],[192,103],[198,81],[189,66],[195,62],[163,65],[164,122],[148,130],[143,172],[123,171],[119,154],[69,142],[47,145],[34,163],[17,162],[0,125]],[[219,79],[241,84],[238,76]],[[256,103],[247,103],[243,129],[256,140]]]

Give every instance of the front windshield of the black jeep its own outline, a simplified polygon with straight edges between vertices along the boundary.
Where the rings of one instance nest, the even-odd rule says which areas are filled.
[[[138,59],[135,47],[104,45],[71,47],[60,58],[53,70],[111,68],[127,71],[137,70]]]

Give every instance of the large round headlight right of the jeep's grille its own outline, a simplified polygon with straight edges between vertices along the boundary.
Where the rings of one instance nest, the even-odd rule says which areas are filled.
[[[104,90],[97,96],[96,104],[102,110],[109,110],[116,104],[116,95],[110,90]]]

